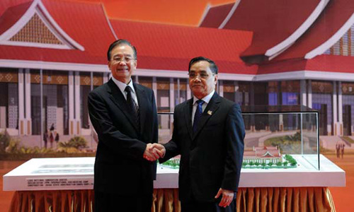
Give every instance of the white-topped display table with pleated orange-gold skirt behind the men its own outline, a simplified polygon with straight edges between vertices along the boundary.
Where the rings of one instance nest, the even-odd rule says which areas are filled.
[[[345,172],[320,160],[321,170],[242,169],[236,211],[336,211],[328,187],[345,186]],[[93,211],[93,161],[35,158],[8,172],[10,211]],[[181,211],[178,169],[158,167],[152,211]]]

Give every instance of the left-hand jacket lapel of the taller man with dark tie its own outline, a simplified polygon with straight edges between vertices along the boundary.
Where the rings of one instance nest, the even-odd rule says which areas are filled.
[[[108,87],[110,88],[110,90],[108,90],[108,93],[110,93],[110,99],[115,103],[115,105],[118,106],[120,110],[122,110],[122,113],[125,115],[125,117],[127,117],[130,124],[134,126],[135,130],[137,130],[137,124],[135,123],[134,117],[132,117],[132,114],[129,110],[127,100],[125,100],[124,95],[122,92],[120,92],[118,86],[115,85],[112,79],[108,81]]]

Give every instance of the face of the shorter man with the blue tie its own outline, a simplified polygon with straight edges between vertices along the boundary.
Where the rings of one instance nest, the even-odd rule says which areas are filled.
[[[217,75],[210,70],[208,61],[198,61],[192,64],[189,76],[189,88],[198,99],[211,93],[217,84]]]

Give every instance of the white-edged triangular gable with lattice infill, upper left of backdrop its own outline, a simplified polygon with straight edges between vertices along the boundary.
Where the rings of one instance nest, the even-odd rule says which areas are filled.
[[[84,51],[60,28],[40,0],[33,1],[23,16],[0,35],[0,45]]]

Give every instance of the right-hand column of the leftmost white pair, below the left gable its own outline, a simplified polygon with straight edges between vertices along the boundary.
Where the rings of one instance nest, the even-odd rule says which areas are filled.
[[[25,125],[27,135],[32,134],[32,115],[30,113],[30,69],[25,69]]]

